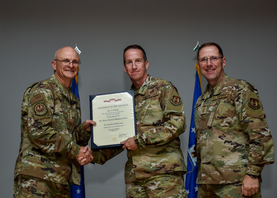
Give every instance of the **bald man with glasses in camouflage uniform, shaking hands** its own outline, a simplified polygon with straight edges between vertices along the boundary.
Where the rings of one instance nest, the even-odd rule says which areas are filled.
[[[80,185],[80,166],[93,156],[83,153],[92,120],[80,123],[78,98],[70,88],[79,56],[63,47],[52,61],[51,78],[34,83],[21,107],[21,144],[14,171],[14,197],[70,198],[70,184]],[[86,146],[88,149],[88,146]]]

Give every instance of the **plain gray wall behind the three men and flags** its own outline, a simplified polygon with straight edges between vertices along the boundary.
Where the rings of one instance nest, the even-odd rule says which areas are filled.
[[[187,155],[195,82],[197,41],[218,43],[225,72],[258,88],[273,137],[276,127],[276,1],[1,1],[1,197],[12,196],[20,145],[22,96],[33,82],[53,73],[51,61],[63,46],[81,50],[79,94],[82,120],[89,95],[129,90],[123,49],[141,45],[148,73],[171,81],[187,118],[181,135]],[[203,88],[207,82],[203,80]],[[86,197],[125,197],[126,151],[104,165],[85,166]],[[275,197],[277,163],[262,172],[263,197]]]

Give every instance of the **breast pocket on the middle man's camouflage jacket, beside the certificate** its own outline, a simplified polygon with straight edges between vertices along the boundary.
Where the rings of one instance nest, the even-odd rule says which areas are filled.
[[[163,110],[159,101],[147,99],[142,105],[142,114],[139,122],[147,125],[158,126],[163,118]]]

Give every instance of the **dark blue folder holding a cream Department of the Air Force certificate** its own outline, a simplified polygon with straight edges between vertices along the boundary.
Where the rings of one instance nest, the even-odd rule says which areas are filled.
[[[134,90],[89,95],[91,148],[122,146],[137,135]]]

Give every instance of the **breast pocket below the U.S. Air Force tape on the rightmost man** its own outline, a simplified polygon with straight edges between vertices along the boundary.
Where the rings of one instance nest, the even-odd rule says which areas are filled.
[[[233,120],[234,113],[234,106],[220,101],[213,116],[212,127],[227,132]]]

